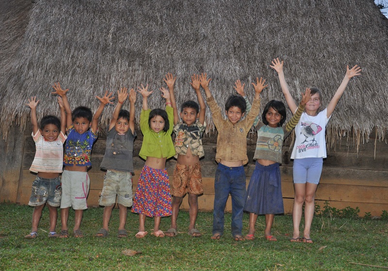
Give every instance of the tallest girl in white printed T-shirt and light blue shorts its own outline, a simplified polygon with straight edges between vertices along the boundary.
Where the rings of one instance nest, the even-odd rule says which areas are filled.
[[[284,77],[283,61],[280,62],[276,58],[272,61],[270,67],[277,72],[287,104],[291,112],[295,112],[297,107]],[[291,154],[291,159],[294,159],[292,175],[295,190],[292,208],[292,242],[313,242],[310,238],[310,228],[315,210],[315,191],[322,174],[323,158],[326,158],[325,128],[349,80],[360,75],[360,72],[361,68],[357,65],[351,69],[349,69],[349,65],[347,66],[345,77],[337,92],[327,108],[322,111],[320,111],[322,105],[321,91],[317,88],[310,88],[311,98],[307,102],[305,112],[302,113],[302,117],[295,128],[296,138]],[[305,228],[303,238],[300,238],[299,225],[302,218],[303,204],[305,204]]]

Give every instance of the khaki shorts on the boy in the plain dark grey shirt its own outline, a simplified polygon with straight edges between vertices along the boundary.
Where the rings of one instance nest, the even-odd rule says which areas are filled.
[[[132,202],[132,173],[108,170],[104,178],[99,205],[110,206],[116,203],[131,207]]]

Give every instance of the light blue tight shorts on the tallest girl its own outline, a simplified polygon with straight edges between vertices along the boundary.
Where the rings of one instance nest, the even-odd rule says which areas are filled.
[[[294,159],[292,175],[294,183],[318,184],[321,179],[323,158]]]

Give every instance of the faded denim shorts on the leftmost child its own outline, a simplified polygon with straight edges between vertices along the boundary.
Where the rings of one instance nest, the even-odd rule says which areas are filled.
[[[40,206],[47,202],[50,206],[61,205],[62,187],[61,178],[45,179],[36,176],[32,183],[31,197],[28,205]]]

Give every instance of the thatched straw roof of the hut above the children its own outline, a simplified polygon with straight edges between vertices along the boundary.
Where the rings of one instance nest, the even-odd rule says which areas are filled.
[[[360,65],[362,76],[351,80],[329,122],[329,138],[334,142],[354,131],[362,143],[374,128],[379,138],[387,132],[388,23],[372,0],[37,0],[29,20],[12,69],[4,76],[0,67],[3,136],[12,121],[27,120],[28,96],[41,99],[38,118],[58,114],[50,95],[55,81],[70,89],[72,108],[96,109],[95,95],[120,86],[148,82],[157,90],[166,72],[178,76],[178,105],[195,98],[189,80],[199,72],[213,79],[210,89],[219,104],[234,92],[236,79],[246,83],[252,98],[249,83],[257,76],[269,82],[263,104],[283,100],[269,67],[274,57],[285,60],[296,99],[316,86],[325,105],[346,65]],[[154,94],[150,107],[159,106],[162,99]],[[140,109],[138,96],[137,116]],[[112,110],[104,112],[102,126]],[[207,118],[211,121],[210,112]]]

